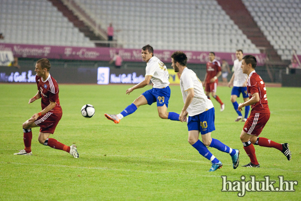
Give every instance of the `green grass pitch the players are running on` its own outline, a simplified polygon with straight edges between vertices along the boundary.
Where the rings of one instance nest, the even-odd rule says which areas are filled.
[[[146,89],[125,94],[131,85],[60,84],[63,117],[52,138],[78,147],[80,158],[43,146],[38,128],[33,129],[33,156],[16,156],[24,148],[22,123],[41,111],[40,100],[28,105],[37,92],[35,84],[0,84],[0,200],[300,200],[300,183],[294,192],[222,192],[222,175],[240,180],[255,175],[264,180],[301,181],[301,88],[267,87],[271,117],[260,137],[287,142],[291,161],[276,149],[255,146],[260,168],[243,168],[249,158],[239,135],[242,122],[230,102],[231,89],[219,86],[217,94],[225,111],[215,106],[216,131],[212,137],[241,151],[240,165],[232,168],[231,157],[209,150],[223,163],[208,172],[211,163],[187,142],[187,124],[162,120],[156,104],[141,106],[115,125],[104,113],[118,114]],[[180,86],[171,86],[168,112],[180,113]],[[238,98],[238,102],[242,97]],[[83,118],[80,109],[92,104],[96,113]],[[249,179],[248,179],[249,178]]]

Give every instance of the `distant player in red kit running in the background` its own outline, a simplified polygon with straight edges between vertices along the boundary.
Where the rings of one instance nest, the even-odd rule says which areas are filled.
[[[223,104],[222,100],[216,95],[216,88],[218,83],[218,77],[222,74],[221,64],[218,60],[215,59],[215,53],[209,53],[209,61],[206,64],[206,75],[204,79],[205,92],[210,99],[211,95],[217,100],[221,105],[221,112],[225,110],[225,104]]]

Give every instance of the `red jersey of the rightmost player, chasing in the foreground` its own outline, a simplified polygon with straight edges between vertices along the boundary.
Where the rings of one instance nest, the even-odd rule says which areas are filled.
[[[270,113],[267,105],[265,84],[255,70],[252,71],[248,77],[247,90],[250,99],[253,93],[259,94],[259,101],[252,105],[252,111],[257,113]]]

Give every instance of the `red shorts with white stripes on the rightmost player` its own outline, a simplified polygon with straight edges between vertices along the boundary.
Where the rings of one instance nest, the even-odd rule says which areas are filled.
[[[269,113],[251,112],[243,126],[243,131],[249,135],[259,136],[269,117]]]

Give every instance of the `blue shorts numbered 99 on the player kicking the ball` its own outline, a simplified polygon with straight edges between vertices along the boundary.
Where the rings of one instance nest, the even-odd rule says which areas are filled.
[[[157,102],[157,107],[166,105],[168,108],[168,101],[171,97],[171,88],[169,86],[165,88],[152,88],[142,93],[142,95],[146,98],[149,106]]]

